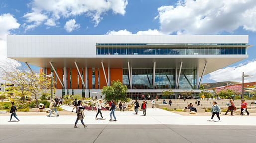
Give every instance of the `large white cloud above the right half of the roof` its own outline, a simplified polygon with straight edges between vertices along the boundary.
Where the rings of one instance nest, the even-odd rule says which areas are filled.
[[[256,0],[179,0],[158,12],[166,34],[218,34],[240,26],[256,31]]]

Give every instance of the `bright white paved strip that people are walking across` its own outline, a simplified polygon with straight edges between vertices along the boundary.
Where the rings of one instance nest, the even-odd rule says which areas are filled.
[[[72,110],[72,107],[62,106],[63,109]],[[106,120],[95,120],[96,111],[85,111],[85,124],[88,125],[241,125],[256,126],[256,116],[221,116],[221,122],[209,122],[210,116],[182,116],[158,108],[148,108],[147,115],[134,115],[134,112],[116,111],[116,122],[109,122],[110,111],[103,111],[103,117]],[[0,116],[0,125],[72,125],[76,116],[18,116],[20,122],[7,122],[9,116]],[[98,115],[100,118],[100,115]],[[12,119],[15,121],[15,119]],[[214,120],[217,120],[215,116]],[[79,124],[80,121],[78,122]]]

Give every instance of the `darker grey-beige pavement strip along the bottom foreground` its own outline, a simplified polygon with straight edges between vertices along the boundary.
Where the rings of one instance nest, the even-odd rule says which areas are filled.
[[[255,143],[254,126],[0,125],[0,143]]]

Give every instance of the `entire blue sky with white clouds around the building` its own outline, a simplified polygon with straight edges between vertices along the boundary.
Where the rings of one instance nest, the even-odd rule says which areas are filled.
[[[7,34],[249,35],[249,45],[256,45],[255,9],[256,0],[0,0],[0,46]],[[248,54],[203,83],[241,81],[242,71],[255,75],[247,82],[256,81],[256,48]]]

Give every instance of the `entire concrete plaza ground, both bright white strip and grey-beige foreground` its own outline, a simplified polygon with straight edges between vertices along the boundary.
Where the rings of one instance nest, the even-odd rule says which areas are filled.
[[[146,116],[142,111],[139,115],[116,111],[118,121],[109,122],[109,113],[103,111],[106,120],[95,120],[96,111],[85,111],[86,129],[80,121],[79,128],[73,128],[74,114],[18,116],[20,122],[0,116],[0,143],[250,143],[256,139],[256,116],[221,115],[221,122],[209,122],[210,116],[148,108]]]

